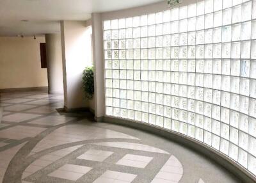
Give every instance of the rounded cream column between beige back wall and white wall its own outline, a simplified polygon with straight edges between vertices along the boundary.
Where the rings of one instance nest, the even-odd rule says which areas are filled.
[[[48,67],[48,92],[63,93],[63,72],[60,34],[45,35],[47,67]]]

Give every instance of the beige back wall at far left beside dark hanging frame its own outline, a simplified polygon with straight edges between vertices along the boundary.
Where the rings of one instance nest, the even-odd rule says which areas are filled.
[[[47,86],[41,68],[40,42],[44,37],[0,37],[0,89]]]

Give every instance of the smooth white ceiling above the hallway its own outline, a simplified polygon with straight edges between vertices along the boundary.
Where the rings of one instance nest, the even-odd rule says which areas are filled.
[[[163,0],[0,0],[0,36],[56,33],[60,31],[60,20],[87,20],[94,12],[159,1]]]

